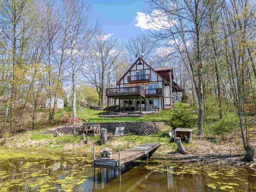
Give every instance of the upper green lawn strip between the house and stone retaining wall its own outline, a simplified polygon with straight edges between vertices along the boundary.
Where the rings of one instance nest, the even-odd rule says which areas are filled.
[[[163,110],[160,113],[146,114],[145,117],[120,117],[120,118],[102,118],[99,115],[106,111],[92,110],[85,107],[77,111],[77,117],[88,120],[89,122],[135,122],[135,121],[152,121],[152,122],[169,122],[172,110]]]

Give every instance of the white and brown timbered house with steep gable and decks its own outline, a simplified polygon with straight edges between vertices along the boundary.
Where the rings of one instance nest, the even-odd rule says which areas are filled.
[[[173,81],[172,67],[151,68],[138,58],[106,96],[108,104],[109,98],[119,100],[119,110],[151,111],[180,102],[184,91]]]

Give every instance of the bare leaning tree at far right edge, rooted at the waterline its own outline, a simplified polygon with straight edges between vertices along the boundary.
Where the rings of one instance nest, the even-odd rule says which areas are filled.
[[[247,54],[247,47],[252,43],[248,35],[252,30],[249,26],[255,23],[253,15],[255,12],[252,2],[247,0],[241,2],[223,2],[223,19],[227,31],[228,53],[230,55],[231,76],[234,87],[234,106],[239,116],[239,126],[243,146],[246,151],[246,158],[249,161],[256,161],[256,149],[250,143],[249,127],[247,125],[246,100],[250,92],[246,91],[247,66],[250,63],[250,56]]]

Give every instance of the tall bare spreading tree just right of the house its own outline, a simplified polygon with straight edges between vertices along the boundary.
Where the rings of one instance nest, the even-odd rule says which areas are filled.
[[[157,41],[169,47],[170,54],[178,53],[183,63],[190,71],[194,82],[198,101],[198,135],[203,134],[204,90],[203,65],[204,51],[203,27],[209,1],[149,1],[154,21],[151,33]],[[149,21],[150,22],[150,21]]]

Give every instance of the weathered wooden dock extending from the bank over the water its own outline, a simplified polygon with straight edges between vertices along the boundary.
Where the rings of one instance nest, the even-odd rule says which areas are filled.
[[[158,148],[160,145],[160,143],[146,143],[131,149],[120,151],[119,153],[111,154],[110,157],[99,157],[94,159],[94,165],[121,166],[134,159],[143,156],[148,157],[148,154],[151,152],[154,153],[154,149]]]

